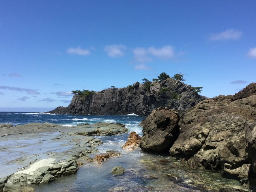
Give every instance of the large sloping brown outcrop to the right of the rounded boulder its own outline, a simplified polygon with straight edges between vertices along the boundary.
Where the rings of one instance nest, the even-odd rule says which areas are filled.
[[[187,110],[170,154],[189,168],[224,170],[252,185],[256,175],[255,83],[235,95],[207,99]]]

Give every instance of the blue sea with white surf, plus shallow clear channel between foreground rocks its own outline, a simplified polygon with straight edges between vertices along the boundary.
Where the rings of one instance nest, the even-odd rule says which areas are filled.
[[[34,186],[36,192],[217,192],[222,187],[241,187],[238,181],[225,179],[218,171],[188,170],[180,160],[169,155],[145,153],[140,148],[124,151],[121,146],[126,142],[131,131],[142,136],[142,127],[139,123],[144,118],[146,117],[135,114],[78,116],[41,112],[0,112],[0,124],[22,125],[49,122],[76,126],[84,123],[109,122],[125,124],[128,129],[127,133],[116,136],[96,136],[103,141],[103,144],[97,146],[100,153],[117,150],[122,153],[119,157],[109,158],[101,164],[86,162],[79,167],[76,174]],[[122,166],[125,168],[125,173],[118,176],[112,175],[110,172],[114,166]]]

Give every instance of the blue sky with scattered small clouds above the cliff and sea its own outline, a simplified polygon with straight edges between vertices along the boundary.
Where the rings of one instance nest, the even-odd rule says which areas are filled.
[[[256,82],[256,1],[2,0],[0,111],[185,73],[201,95]]]

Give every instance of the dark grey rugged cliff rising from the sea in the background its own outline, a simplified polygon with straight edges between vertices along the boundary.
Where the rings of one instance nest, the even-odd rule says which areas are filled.
[[[58,107],[49,113],[77,115],[146,116],[159,106],[183,112],[206,97],[198,95],[183,82],[168,78],[163,82],[136,82],[126,88],[109,88],[83,97],[74,95],[67,107]]]

